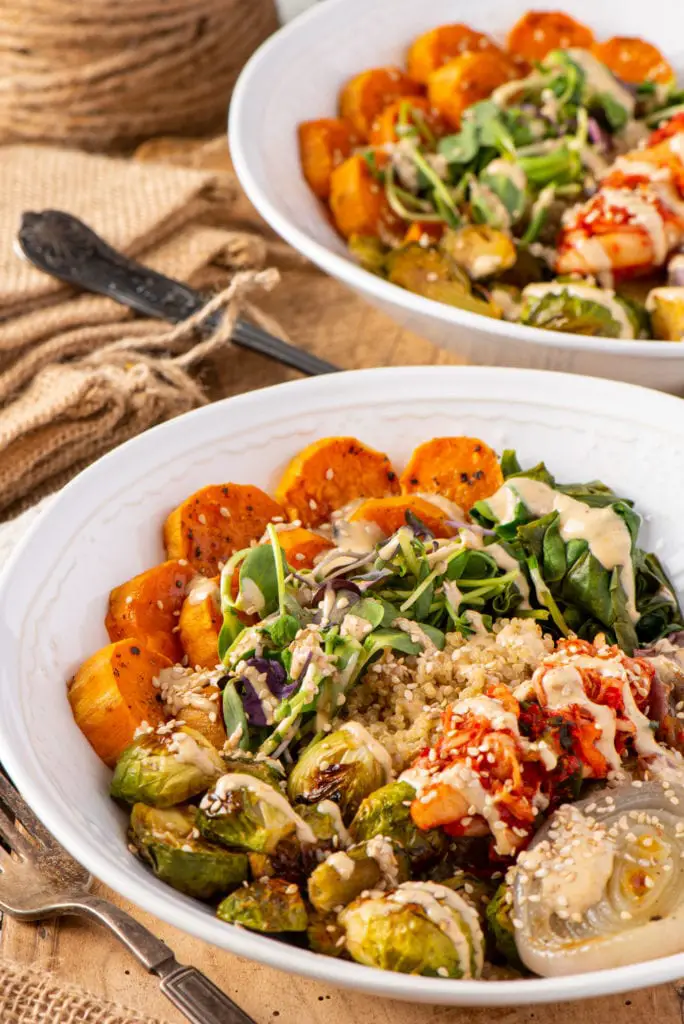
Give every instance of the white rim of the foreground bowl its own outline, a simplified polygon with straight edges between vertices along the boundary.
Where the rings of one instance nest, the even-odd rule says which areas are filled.
[[[87,497],[92,493],[93,487],[96,489],[99,478],[112,478],[112,475],[116,478],[118,462],[126,459],[131,453],[136,451],[140,453],[156,452],[159,457],[159,453],[165,449],[164,444],[159,444],[159,439],[165,434],[170,437],[174,430],[184,430],[188,422],[187,417],[193,417],[196,420],[202,417],[213,417],[216,415],[217,407],[225,408],[228,402],[231,412],[240,417],[241,410],[248,411],[252,403],[261,404],[264,401],[264,396],[275,391],[277,391],[279,397],[287,394],[287,400],[293,409],[298,408],[297,399],[300,392],[306,392],[312,388],[316,389],[319,397],[330,399],[331,403],[334,403],[340,382],[344,383],[351,377],[354,381],[362,384],[372,381],[373,377],[387,378],[388,376],[397,379],[408,377],[415,382],[417,376],[429,377],[435,373],[469,377],[473,380],[475,388],[486,386],[488,379],[498,380],[501,383],[502,377],[505,376],[507,381],[510,381],[507,388],[510,394],[516,392],[516,379],[521,380],[522,378],[535,384],[540,393],[545,393],[549,388],[557,386],[559,390],[567,389],[571,394],[576,390],[578,385],[576,376],[539,370],[483,367],[399,367],[348,371],[342,374],[324,375],[308,380],[292,381],[270,388],[262,388],[196,410],[176,420],[154,427],[127,441],[109,455],[103,456],[72,480],[55,498],[54,504],[46,510],[44,515],[49,522],[49,518],[52,516],[68,514],[70,504],[78,503],[82,493]],[[637,385],[596,378],[584,378],[584,388],[586,396],[592,400],[598,399],[600,395],[605,395],[606,391],[618,391],[621,400],[627,402],[635,411],[644,404],[652,407],[653,402],[656,401],[657,414],[660,418],[667,420],[669,412],[672,411],[673,419],[678,416],[684,420],[681,400],[673,395],[661,394]],[[44,529],[43,523],[45,521],[43,516],[40,516],[22,539],[7,562],[0,586],[4,585],[5,579],[10,578],[17,564],[23,560],[25,552],[35,544],[36,537]],[[29,768],[25,770],[20,752],[12,751],[8,745],[7,737],[3,734],[1,716],[0,752],[7,771],[35,813],[66,849],[92,874],[119,892],[124,898],[131,900],[143,910],[168,924],[198,939],[213,943],[237,955],[254,959],[268,967],[388,998],[431,1002],[439,1006],[473,1007],[555,1002],[614,994],[641,988],[645,985],[674,981],[681,977],[684,972],[684,953],[678,953],[659,959],[642,962],[639,965],[559,978],[532,978],[498,982],[442,980],[393,974],[388,971],[361,967],[357,964],[337,961],[333,957],[289,946],[243,929],[231,928],[209,915],[199,915],[189,907],[185,908],[180,904],[160,899],[159,893],[149,889],[142,880],[137,881],[129,878],[125,883],[121,883],[118,869],[115,866],[110,866],[108,861],[100,861],[93,844],[84,844],[81,830],[59,817],[57,810],[50,803],[49,796],[32,779],[31,770]],[[102,799],[108,799],[104,794]]]

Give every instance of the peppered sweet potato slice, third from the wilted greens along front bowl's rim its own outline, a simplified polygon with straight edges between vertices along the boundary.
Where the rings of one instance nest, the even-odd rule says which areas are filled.
[[[280,505],[259,487],[216,483],[190,495],[164,523],[169,558],[184,558],[197,572],[213,577],[219,562],[258,541],[271,521],[282,521]]]

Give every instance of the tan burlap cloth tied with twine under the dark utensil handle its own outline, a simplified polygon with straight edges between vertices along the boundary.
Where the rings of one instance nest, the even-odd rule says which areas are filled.
[[[207,401],[198,370],[228,351],[239,310],[283,333],[258,309],[258,293],[277,281],[266,269],[271,243],[231,220],[237,184],[224,169],[225,141],[200,151],[205,167],[214,158],[221,169],[164,166],[159,145],[139,161],[0,148],[0,518],[114,445]],[[77,296],[12,246],[23,211],[56,203],[116,248],[217,294],[174,328]],[[207,339],[198,326],[217,308],[225,315]],[[239,372],[240,350],[229,357]]]

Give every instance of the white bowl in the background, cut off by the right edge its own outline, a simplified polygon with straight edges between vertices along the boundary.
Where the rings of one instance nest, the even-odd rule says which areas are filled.
[[[551,5],[553,6],[553,4]],[[673,0],[563,0],[597,36],[639,35],[684,69],[684,5]],[[302,177],[297,125],[337,110],[341,85],[366,68],[400,63],[409,43],[446,22],[503,38],[523,11],[549,0],[324,0],[252,57],[229,118],[232,160],[250,200],[290,245],[399,324],[469,362],[592,374],[684,393],[684,345],[583,338],[493,321],[361,269]]]

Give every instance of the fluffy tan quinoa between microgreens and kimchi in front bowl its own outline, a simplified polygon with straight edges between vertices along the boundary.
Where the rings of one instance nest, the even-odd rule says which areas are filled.
[[[442,651],[420,657],[385,653],[349,696],[347,718],[365,725],[402,771],[427,745],[443,709],[488,683],[530,679],[553,640],[530,618],[502,618],[494,632],[448,633]]]

